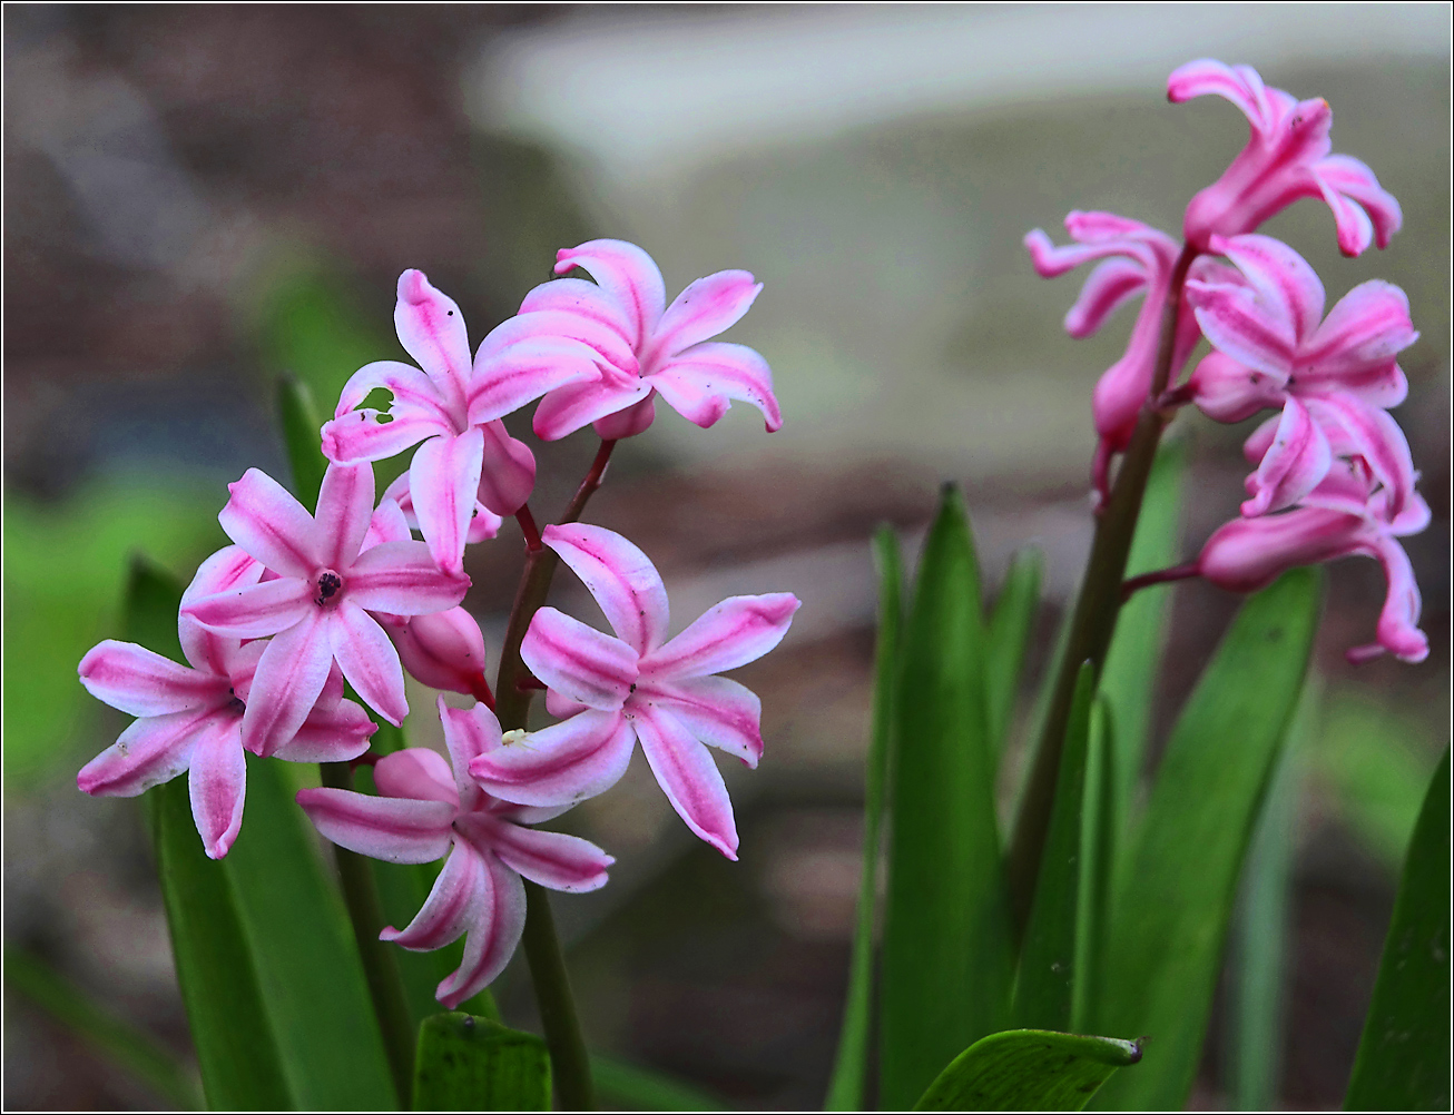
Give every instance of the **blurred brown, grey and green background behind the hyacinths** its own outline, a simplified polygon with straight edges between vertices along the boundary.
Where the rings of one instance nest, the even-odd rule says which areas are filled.
[[[787,426],[768,436],[739,406],[704,432],[662,407],[587,518],[653,557],[679,625],[736,592],[792,590],[804,608],[737,675],[768,740],[762,768],[730,779],[742,862],[694,840],[632,768],[573,814],[615,853],[611,887],[555,906],[592,1044],[746,1108],[820,1105],[838,1038],[871,529],[893,522],[913,552],[957,480],[992,590],[1016,547],[1040,547],[1029,683],[1089,545],[1089,393],[1130,314],[1072,342],[1060,320],[1080,276],[1037,279],[1022,236],[1061,240],[1073,208],[1179,228],[1246,140],[1220,100],[1166,103],[1184,61],[1245,61],[1325,96],[1335,150],[1374,167],[1405,230],[1358,260],[1338,256],[1319,204],[1266,231],[1309,257],[1329,302],[1370,278],[1407,291],[1422,339],[1397,417],[1434,509],[1409,539],[1429,660],[1348,667],[1383,581],[1371,561],[1333,567],[1298,762],[1278,1098],[1339,1103],[1448,738],[1445,6],[6,4],[3,19],[7,942],[186,1052],[140,811],[74,784],[125,722],[86,698],[76,663],[116,629],[129,555],[185,579],[224,542],[224,484],[284,468],[276,375],[332,408],[358,366],[401,355],[401,269],[457,298],[478,342],[555,249],[621,237],[656,257],[669,297],[724,267],[766,283],[728,339],[772,363]],[[1178,420],[1188,557],[1236,510],[1245,433]],[[550,516],[595,446],[535,448]],[[513,525],[467,560],[467,605],[497,647]],[[1162,731],[1236,603],[1176,589]],[[496,990],[529,1025],[521,977]],[[160,1102],[22,997],[6,1012],[7,1108]],[[1195,1106],[1227,1102],[1218,1034]]]

